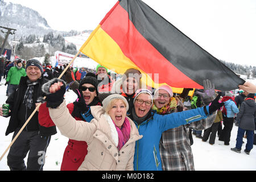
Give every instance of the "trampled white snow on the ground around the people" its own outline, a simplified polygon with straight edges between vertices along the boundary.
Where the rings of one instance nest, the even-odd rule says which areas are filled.
[[[2,79],[1,84],[5,84],[5,80]],[[73,102],[76,98],[76,94],[69,91],[65,94],[66,100]],[[6,86],[0,85],[0,104],[5,104]],[[5,136],[6,127],[9,123],[9,118],[0,117],[0,155],[11,143],[11,137],[13,134]],[[197,171],[255,171],[256,170],[256,146],[251,150],[250,155],[245,154],[245,144],[242,146],[241,154],[230,150],[231,147],[236,145],[237,126],[233,127],[230,145],[225,146],[224,142],[218,141],[216,137],[215,144],[212,146],[208,142],[202,142],[201,139],[196,138],[193,135],[194,144],[192,145],[192,151],[195,162],[195,169]],[[246,139],[243,139],[246,143]],[[57,134],[52,136],[51,142],[46,152],[46,163],[44,165],[45,171],[59,171],[61,166],[61,160],[63,158],[63,152],[67,146],[68,138]],[[7,166],[7,154],[0,161],[0,171],[9,171]],[[26,159],[25,159],[26,162]]]

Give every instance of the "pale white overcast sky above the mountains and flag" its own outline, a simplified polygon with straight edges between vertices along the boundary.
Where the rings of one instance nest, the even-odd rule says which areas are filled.
[[[40,13],[55,30],[94,30],[117,0],[5,0]],[[256,66],[255,0],[143,0],[217,59]]]

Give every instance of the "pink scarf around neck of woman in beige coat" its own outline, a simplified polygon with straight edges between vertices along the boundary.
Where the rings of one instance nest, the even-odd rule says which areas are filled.
[[[114,122],[113,122],[114,123]],[[115,125],[115,123],[114,123]],[[131,126],[130,122],[127,117],[125,117],[125,121],[123,122],[123,125],[121,129],[115,125],[115,129],[117,129],[118,133],[118,150],[121,150],[121,148],[125,145],[125,143],[129,140],[130,138],[130,131],[131,131]]]

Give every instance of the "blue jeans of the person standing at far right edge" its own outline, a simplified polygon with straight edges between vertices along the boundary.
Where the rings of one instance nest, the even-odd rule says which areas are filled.
[[[253,137],[254,137],[254,131],[250,130],[243,130],[241,127],[238,127],[237,131],[237,143],[236,148],[240,149],[242,148],[242,142],[243,142],[243,136],[245,135],[245,131],[247,134],[247,143],[245,146],[246,151],[250,152],[250,150],[253,148]]]

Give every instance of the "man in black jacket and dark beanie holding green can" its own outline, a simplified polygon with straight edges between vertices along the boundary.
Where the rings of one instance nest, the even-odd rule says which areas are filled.
[[[26,73],[26,77],[20,78],[18,89],[6,100],[6,103],[10,105],[9,116],[11,117],[6,135],[14,132],[13,138],[35,110],[37,105],[36,100],[42,96],[42,85],[47,82],[42,77],[43,67],[38,60],[28,60]],[[3,115],[2,107],[0,107],[0,115]],[[7,156],[7,164],[11,171],[42,171],[46,149],[51,140],[51,135],[56,133],[55,126],[47,128],[39,125],[38,111],[36,111],[10,148]],[[26,167],[24,158],[27,153]]]

